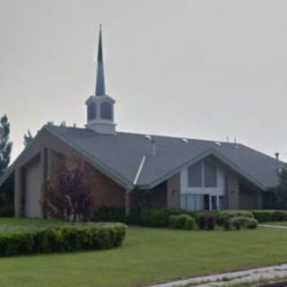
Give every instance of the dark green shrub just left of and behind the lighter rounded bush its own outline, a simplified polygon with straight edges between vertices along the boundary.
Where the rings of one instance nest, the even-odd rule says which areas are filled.
[[[176,208],[143,210],[140,214],[140,222],[143,226],[168,227],[170,215],[179,214],[187,214],[187,211]]]

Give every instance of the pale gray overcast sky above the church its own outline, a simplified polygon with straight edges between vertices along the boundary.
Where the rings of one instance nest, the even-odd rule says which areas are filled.
[[[0,0],[0,114],[22,136],[83,126],[98,24],[117,130],[240,143],[287,160],[287,1]]]

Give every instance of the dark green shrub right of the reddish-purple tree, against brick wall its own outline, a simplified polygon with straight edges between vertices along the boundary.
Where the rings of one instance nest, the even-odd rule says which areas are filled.
[[[126,222],[125,208],[100,206],[94,214],[93,222]]]

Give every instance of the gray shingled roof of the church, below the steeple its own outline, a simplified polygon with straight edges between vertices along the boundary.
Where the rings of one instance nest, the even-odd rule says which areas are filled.
[[[65,126],[45,128],[130,185],[133,185],[143,156],[146,156],[136,183],[140,187],[153,187],[184,166],[210,154],[263,189],[278,184],[277,170],[284,165],[282,161],[239,143],[218,145],[196,139],[185,143],[181,138],[152,135],[156,143],[156,155],[152,155],[152,143],[144,135],[100,135],[86,128]]]

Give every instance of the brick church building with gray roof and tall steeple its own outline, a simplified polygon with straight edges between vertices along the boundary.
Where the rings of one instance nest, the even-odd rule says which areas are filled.
[[[0,190],[13,193],[16,217],[43,217],[44,183],[77,160],[93,170],[97,206],[126,214],[136,204],[135,190],[149,191],[150,208],[261,209],[278,185],[284,163],[246,145],[117,131],[101,30],[95,92],[85,104],[85,127],[43,126],[0,178]]]

